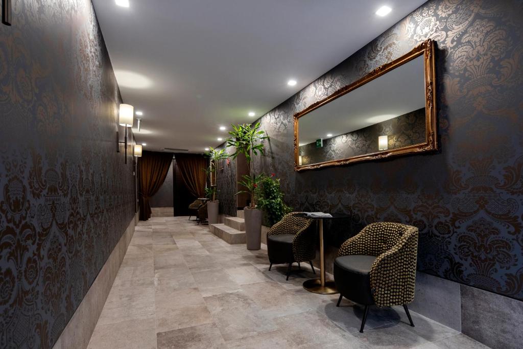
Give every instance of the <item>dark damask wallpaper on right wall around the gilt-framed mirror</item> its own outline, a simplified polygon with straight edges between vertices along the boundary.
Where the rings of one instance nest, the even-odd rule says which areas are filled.
[[[256,166],[295,209],[350,215],[332,243],[371,222],[413,224],[420,271],[523,299],[521,18],[516,0],[427,2],[261,117],[271,140]],[[292,115],[428,38],[440,151],[294,172]]]

